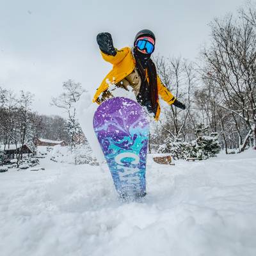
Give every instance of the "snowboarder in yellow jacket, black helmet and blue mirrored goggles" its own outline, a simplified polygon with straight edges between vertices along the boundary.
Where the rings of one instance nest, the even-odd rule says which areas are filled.
[[[159,95],[170,105],[173,104],[181,109],[186,108],[157,76],[156,66],[150,58],[156,43],[156,37],[152,31],[148,29],[139,31],[134,38],[132,49],[130,47],[116,49],[113,46],[111,34],[105,32],[97,35],[97,43],[103,59],[113,64],[113,69],[100,84],[93,102],[100,104],[113,97],[109,91],[109,84],[115,84],[125,90],[131,86],[138,103],[145,106],[149,113],[154,113],[156,120],[161,112]]]

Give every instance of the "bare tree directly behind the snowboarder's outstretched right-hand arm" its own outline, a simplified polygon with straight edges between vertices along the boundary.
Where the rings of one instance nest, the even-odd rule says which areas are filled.
[[[191,63],[181,58],[164,59],[158,56],[155,61],[163,84],[168,87],[177,99],[186,104],[185,111],[174,106],[164,108],[163,116],[160,120],[161,127],[166,136],[170,136],[173,141],[184,141],[191,130],[187,120],[192,103],[191,93],[194,90],[196,81],[195,69]]]

